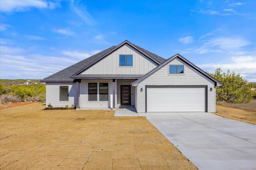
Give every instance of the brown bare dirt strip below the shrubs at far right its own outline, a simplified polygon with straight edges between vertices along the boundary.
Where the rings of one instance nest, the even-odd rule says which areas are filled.
[[[217,104],[218,106],[232,107],[236,109],[256,111],[256,100],[251,100],[248,103],[225,103]]]

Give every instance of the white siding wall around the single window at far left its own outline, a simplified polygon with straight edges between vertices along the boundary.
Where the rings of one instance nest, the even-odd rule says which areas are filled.
[[[60,86],[68,86],[68,101],[60,101]],[[49,103],[53,107],[76,105],[76,83],[46,83],[46,107]]]

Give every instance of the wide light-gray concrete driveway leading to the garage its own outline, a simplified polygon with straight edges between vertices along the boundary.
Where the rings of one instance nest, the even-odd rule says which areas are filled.
[[[256,125],[212,113],[147,113],[200,170],[256,169]]]

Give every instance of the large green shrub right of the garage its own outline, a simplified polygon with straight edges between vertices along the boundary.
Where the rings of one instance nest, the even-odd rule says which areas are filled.
[[[217,103],[246,103],[253,99],[253,84],[248,84],[240,74],[223,72],[217,68],[211,76],[222,82],[223,86],[216,86]]]

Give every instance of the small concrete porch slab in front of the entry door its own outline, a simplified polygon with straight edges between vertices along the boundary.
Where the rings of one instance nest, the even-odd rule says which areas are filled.
[[[120,105],[120,106],[117,106],[114,116],[122,117],[122,116],[139,116],[139,115],[134,106]]]

